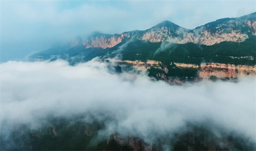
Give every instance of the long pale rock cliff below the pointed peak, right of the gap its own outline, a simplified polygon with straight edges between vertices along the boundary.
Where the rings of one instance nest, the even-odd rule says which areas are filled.
[[[255,25],[254,28],[256,28]],[[253,34],[255,34],[255,31]],[[225,31],[223,29],[221,31],[213,32],[205,26],[202,26],[193,30],[180,28],[173,33],[171,33],[170,29],[167,27],[162,27],[158,30],[147,31],[141,40],[148,40],[150,42],[162,42],[166,40],[177,44],[193,42],[195,44],[213,45],[223,41],[242,42],[247,38],[248,35],[241,33],[239,30]]]

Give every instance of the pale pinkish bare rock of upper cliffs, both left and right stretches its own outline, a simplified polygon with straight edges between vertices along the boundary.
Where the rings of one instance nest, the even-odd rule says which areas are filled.
[[[253,24],[255,35],[256,24]],[[187,30],[187,29],[186,29]],[[181,34],[181,35],[180,35]],[[108,38],[104,35],[91,37],[90,39],[83,42],[86,48],[111,48],[120,42],[122,39],[127,38],[127,34],[122,33],[121,35],[113,35]],[[143,34],[142,37],[135,37],[139,40],[150,41],[150,42],[162,42],[168,41],[177,44],[186,44],[188,42],[193,42],[195,44],[213,45],[223,41],[233,41],[242,42],[248,38],[247,34],[241,33],[241,31],[231,30],[228,33],[223,33],[221,31],[211,32],[201,27],[199,29],[194,29],[193,31],[184,31],[180,33],[180,29],[171,33],[170,29],[167,27],[162,27],[157,30],[150,30]]]

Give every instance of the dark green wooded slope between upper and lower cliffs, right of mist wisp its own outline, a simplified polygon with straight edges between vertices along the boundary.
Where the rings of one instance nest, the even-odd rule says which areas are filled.
[[[255,65],[256,56],[256,37],[250,36],[243,42],[224,41],[212,46],[199,45],[194,43],[171,44],[165,50],[156,53],[160,48],[161,42],[152,43],[148,41],[139,41],[129,43],[126,48],[120,51],[122,60],[139,60],[146,62],[147,60],[161,61],[163,64],[171,62],[198,64],[202,62],[224,63],[224,64],[247,64]],[[113,52],[119,47],[109,50]],[[107,53],[109,53],[107,52]],[[235,58],[253,56],[254,59]]]

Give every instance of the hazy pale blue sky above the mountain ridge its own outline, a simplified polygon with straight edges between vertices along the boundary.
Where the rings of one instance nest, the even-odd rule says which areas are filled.
[[[145,30],[163,20],[184,28],[256,11],[246,1],[1,1],[1,62],[24,60],[55,42],[87,37],[93,31]]]

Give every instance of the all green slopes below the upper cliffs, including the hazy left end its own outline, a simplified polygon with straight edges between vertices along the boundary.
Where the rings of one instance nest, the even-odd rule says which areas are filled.
[[[149,41],[140,41],[138,39],[135,39],[132,42],[129,41],[130,39],[126,39],[126,41],[117,44],[113,48],[106,49],[85,48],[83,45],[78,45],[68,50],[67,47],[55,47],[35,54],[32,56],[32,58],[35,59],[37,57],[41,57],[43,59],[51,59],[51,61],[56,59],[65,59],[69,61],[71,65],[89,61],[94,57],[100,57],[102,59],[118,57],[121,60],[138,60],[143,62],[147,62],[147,60],[155,60],[161,61],[161,63],[169,70],[168,73],[163,74],[166,76],[179,77],[196,76],[198,69],[176,68],[175,64],[173,63],[197,65],[204,62],[235,65],[256,64],[255,35],[250,35],[249,38],[243,42],[224,41],[211,46],[194,43],[176,44],[168,42],[165,42],[165,45],[163,45],[161,44],[162,42],[152,43]],[[52,55],[55,55],[55,57],[51,58]],[[247,56],[252,56],[253,59],[250,60],[248,58],[241,58]],[[149,75],[155,75],[156,73],[162,73],[163,71],[151,68],[148,72]]]

